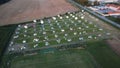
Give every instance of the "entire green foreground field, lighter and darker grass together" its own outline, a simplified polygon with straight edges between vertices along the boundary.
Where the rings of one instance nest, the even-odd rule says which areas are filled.
[[[120,56],[105,40],[89,41],[83,47],[40,50],[32,54],[11,56],[10,68],[119,68]]]

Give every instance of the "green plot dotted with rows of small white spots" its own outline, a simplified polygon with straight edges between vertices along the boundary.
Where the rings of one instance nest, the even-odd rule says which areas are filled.
[[[19,24],[8,50],[21,51],[82,43],[107,39],[110,35],[111,33],[106,29],[87,21],[84,10],[68,12],[64,15]]]

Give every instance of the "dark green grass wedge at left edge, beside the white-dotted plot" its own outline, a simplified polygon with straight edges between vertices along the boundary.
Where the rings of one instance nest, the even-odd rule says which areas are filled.
[[[9,44],[9,40],[16,28],[16,25],[8,25],[0,27],[0,56],[6,46]]]

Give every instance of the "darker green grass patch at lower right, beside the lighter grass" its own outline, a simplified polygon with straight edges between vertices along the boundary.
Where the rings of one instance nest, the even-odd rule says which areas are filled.
[[[102,68],[120,68],[120,56],[115,54],[105,41],[89,42],[87,50]]]

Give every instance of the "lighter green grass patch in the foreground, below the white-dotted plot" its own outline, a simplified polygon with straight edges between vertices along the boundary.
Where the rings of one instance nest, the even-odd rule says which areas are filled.
[[[69,49],[13,59],[10,68],[97,68],[86,50]]]

